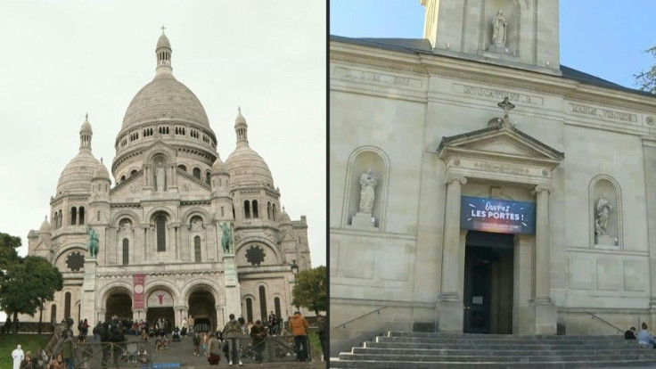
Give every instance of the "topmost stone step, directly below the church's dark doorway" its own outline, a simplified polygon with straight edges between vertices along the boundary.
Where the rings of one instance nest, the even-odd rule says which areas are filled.
[[[623,335],[605,334],[585,335],[521,335],[521,334],[482,334],[482,333],[444,333],[444,332],[396,332],[389,331],[382,337],[416,337],[448,339],[487,339],[487,340],[624,340]]]

